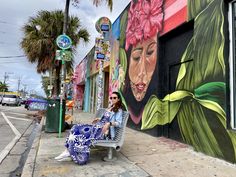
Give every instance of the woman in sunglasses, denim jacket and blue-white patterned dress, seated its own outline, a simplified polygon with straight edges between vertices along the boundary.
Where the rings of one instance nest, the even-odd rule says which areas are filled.
[[[90,146],[96,144],[96,140],[113,139],[116,127],[122,125],[123,104],[118,92],[113,92],[111,107],[107,108],[101,119],[95,118],[90,124],[74,125],[66,138],[66,150],[55,157],[58,161],[72,159],[75,163],[83,165],[89,159]]]

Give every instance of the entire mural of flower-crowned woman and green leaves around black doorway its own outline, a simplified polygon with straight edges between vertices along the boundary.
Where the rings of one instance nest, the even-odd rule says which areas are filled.
[[[167,10],[173,4],[179,10]],[[221,0],[131,1],[119,17],[119,30],[115,29],[120,33],[115,34],[119,60],[112,59],[111,78],[119,78],[115,66],[120,66],[125,80],[116,89],[125,98],[132,122],[142,130],[177,119],[184,142],[235,162],[236,134],[226,128],[224,5]],[[167,19],[175,14],[172,10],[181,14],[176,16],[175,27],[194,20],[194,35],[181,58],[175,91],[158,98],[158,36],[174,28],[166,27]]]

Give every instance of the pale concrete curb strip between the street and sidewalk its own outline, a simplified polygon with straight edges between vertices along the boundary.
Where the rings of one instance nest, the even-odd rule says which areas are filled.
[[[45,119],[45,117],[42,117],[39,126],[36,127],[37,129],[36,129],[35,139],[32,144],[32,147],[30,149],[30,152],[28,154],[27,160],[24,164],[21,177],[33,176],[33,172],[34,172],[34,168],[35,168],[35,160],[36,160],[36,156],[37,156],[38,149],[39,149],[39,142],[40,142],[40,138],[41,138],[41,131],[42,131],[44,119]]]

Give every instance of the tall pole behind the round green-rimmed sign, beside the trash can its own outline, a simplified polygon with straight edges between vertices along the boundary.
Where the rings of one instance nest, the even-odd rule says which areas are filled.
[[[63,24],[63,34],[67,32],[68,16],[69,16],[69,6],[70,0],[66,0],[65,12],[64,12],[64,24]],[[65,98],[65,74],[66,67],[65,61],[62,59],[61,66],[61,93],[60,93],[60,120],[59,120],[59,138],[61,137],[61,126],[62,126],[62,114],[63,114],[63,99]]]

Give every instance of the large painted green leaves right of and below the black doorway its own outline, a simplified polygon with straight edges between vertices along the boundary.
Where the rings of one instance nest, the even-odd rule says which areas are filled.
[[[222,9],[220,0],[189,1],[194,36],[181,59],[176,91],[162,100],[150,98],[141,128],[177,118],[183,140],[195,150],[235,162],[236,135],[226,128]]]

